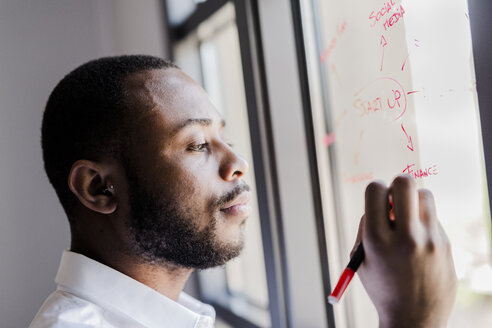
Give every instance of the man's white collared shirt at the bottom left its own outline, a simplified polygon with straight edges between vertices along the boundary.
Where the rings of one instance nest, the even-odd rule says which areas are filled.
[[[83,255],[65,251],[55,282],[29,328],[209,328],[214,309],[181,293],[178,302]]]

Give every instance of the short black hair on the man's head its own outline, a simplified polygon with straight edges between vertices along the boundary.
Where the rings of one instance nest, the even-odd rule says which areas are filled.
[[[171,67],[178,68],[147,55],[104,57],[79,66],[56,85],[43,115],[41,146],[46,174],[69,219],[76,201],[67,183],[73,163],[124,155],[124,130],[136,115],[126,105],[125,78]]]

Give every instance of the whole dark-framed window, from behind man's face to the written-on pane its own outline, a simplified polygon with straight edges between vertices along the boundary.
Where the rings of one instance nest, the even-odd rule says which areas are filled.
[[[199,273],[219,318],[376,326],[357,279],[341,305],[326,296],[347,264],[365,186],[405,172],[433,191],[452,242],[460,287],[449,326],[492,325],[492,138],[481,135],[466,0],[166,3],[174,60],[227,120],[258,195],[243,256]],[[490,50],[482,58],[477,77]]]

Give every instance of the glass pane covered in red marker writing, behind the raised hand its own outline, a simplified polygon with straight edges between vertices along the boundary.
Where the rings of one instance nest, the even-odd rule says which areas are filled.
[[[324,206],[336,213],[326,224],[330,252],[338,251],[334,267],[346,264],[368,181],[411,174],[433,191],[453,247],[460,285],[449,327],[492,326],[490,214],[466,0],[301,3],[313,104],[323,108],[314,111],[324,122],[315,124],[320,175],[332,181],[322,184],[333,192]],[[347,316],[338,319],[376,326],[360,283],[350,288]]]

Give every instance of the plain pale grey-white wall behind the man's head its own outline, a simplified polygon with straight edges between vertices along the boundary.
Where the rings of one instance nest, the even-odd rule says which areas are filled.
[[[97,57],[164,56],[159,0],[0,1],[0,326],[27,327],[69,246],[46,178],[41,118],[55,84]]]

